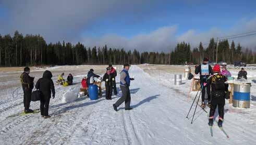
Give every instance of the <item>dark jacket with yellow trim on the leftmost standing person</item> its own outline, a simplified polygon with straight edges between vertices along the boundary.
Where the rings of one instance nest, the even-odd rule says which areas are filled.
[[[34,78],[30,77],[26,72],[20,75],[20,81],[23,91],[32,91],[34,88]]]

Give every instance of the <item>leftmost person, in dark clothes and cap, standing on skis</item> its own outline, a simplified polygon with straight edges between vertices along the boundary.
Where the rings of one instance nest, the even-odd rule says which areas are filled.
[[[24,112],[31,113],[33,110],[29,109],[32,89],[34,88],[34,77],[29,76],[30,68],[25,67],[24,72],[20,75],[20,81],[23,89],[23,104],[24,104]]]

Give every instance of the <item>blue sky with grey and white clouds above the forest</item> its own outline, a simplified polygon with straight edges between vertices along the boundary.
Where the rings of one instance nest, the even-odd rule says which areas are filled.
[[[41,34],[47,42],[82,41],[91,46],[107,43],[127,49],[134,45],[142,50],[152,40],[155,44],[150,50],[169,49],[178,41],[196,47],[210,37],[255,31],[255,6],[256,1],[0,0],[0,34],[18,30]],[[167,45],[156,45],[165,42],[160,36],[166,37]],[[253,45],[251,41],[237,41]]]

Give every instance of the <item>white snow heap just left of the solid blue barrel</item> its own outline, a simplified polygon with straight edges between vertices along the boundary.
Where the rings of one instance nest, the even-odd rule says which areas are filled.
[[[69,88],[69,90],[63,94],[62,102],[67,103],[70,101],[75,101],[78,98],[79,94],[79,87],[76,87],[74,89]]]

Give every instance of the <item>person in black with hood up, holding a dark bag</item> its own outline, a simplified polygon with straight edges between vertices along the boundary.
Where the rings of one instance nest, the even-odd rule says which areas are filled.
[[[51,117],[50,115],[48,115],[51,91],[53,93],[53,99],[55,97],[55,89],[54,89],[54,83],[53,83],[52,77],[53,77],[52,72],[49,70],[45,70],[43,74],[43,78],[40,78],[35,85],[35,88],[41,91],[40,111],[41,111],[41,117],[43,118]]]

